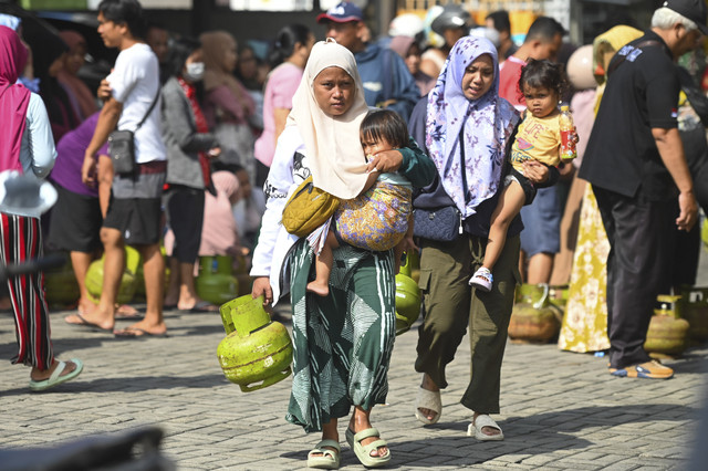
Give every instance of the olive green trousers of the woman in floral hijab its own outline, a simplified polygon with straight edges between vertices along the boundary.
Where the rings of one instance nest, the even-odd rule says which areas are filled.
[[[492,270],[491,292],[469,286],[481,266],[487,239],[465,234],[454,242],[421,243],[420,280],[425,318],[418,329],[416,371],[447,387],[445,367],[469,326],[471,377],[460,401],[479,414],[499,414],[501,362],[519,274],[519,236],[507,238]]]

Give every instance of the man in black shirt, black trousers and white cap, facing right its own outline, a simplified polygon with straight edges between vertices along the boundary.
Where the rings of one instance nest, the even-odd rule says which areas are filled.
[[[676,122],[680,85],[674,60],[698,46],[708,33],[707,15],[704,0],[665,1],[652,29],[615,54],[580,169],[593,186],[611,245],[607,334],[615,376],[674,375],[650,360],[644,342],[669,273],[671,224],[690,230],[697,220]]]

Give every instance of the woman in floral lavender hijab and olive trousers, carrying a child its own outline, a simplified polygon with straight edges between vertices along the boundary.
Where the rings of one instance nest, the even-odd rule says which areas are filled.
[[[438,170],[438,178],[415,198],[414,207],[429,211],[455,207],[461,216],[456,239],[420,238],[418,244],[426,317],[418,329],[415,367],[424,375],[414,412],[426,425],[439,420],[440,389],[447,387],[445,367],[469,327],[472,375],[461,404],[472,411],[467,435],[478,440],[503,439],[489,414],[499,414],[501,362],[520,280],[522,226],[517,217],[509,228],[501,264],[494,265],[491,292],[468,285],[482,262],[502,188],[508,143],[519,121],[498,91],[497,49],[487,39],[466,36],[450,51],[427,102],[420,101],[410,116],[413,137],[425,139]],[[529,176],[534,182],[544,181],[548,170],[532,169]]]

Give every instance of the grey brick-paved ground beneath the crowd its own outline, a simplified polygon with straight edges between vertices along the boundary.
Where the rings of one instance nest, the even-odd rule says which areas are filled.
[[[51,393],[30,394],[29,368],[7,363],[0,385],[1,449],[158,425],[166,432],[163,450],[180,470],[284,470],[302,468],[319,441],[283,419],[290,379],[249,394],[225,379],[215,354],[225,335],[218,315],[168,312],[168,338],[125,341],[69,326],[64,314],[52,314],[55,348],[61,358],[83,359],[85,371]],[[654,381],[613,378],[605,358],[510,343],[502,369],[503,414],[497,417],[507,440],[481,443],[466,437],[470,415],[458,404],[469,375],[466,342],[449,369],[441,421],[424,428],[415,420],[416,338],[416,332],[398,337],[389,404],[373,415],[393,450],[392,468],[687,464],[706,393],[706,346],[669,362],[674,379]],[[0,357],[13,353],[12,320],[1,315]],[[342,458],[343,468],[361,469],[347,447]]]

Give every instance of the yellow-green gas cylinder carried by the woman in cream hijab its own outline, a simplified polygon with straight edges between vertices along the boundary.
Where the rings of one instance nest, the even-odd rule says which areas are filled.
[[[237,297],[220,308],[227,336],[217,347],[225,376],[244,393],[262,389],[291,374],[288,329],[263,310],[263,297]]]

